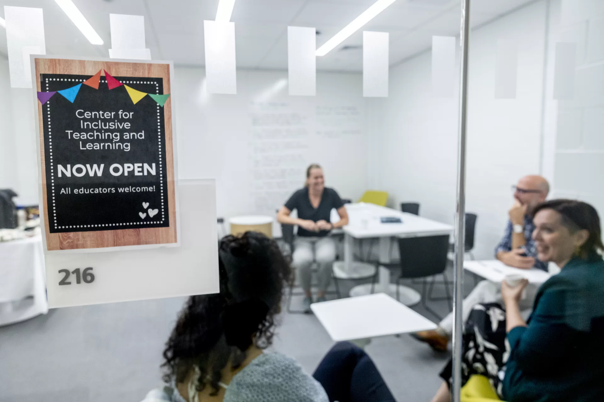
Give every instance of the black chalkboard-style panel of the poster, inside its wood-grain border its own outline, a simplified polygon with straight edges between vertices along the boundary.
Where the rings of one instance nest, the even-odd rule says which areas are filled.
[[[42,74],[58,91],[90,78]],[[162,80],[115,77],[138,91],[163,94]],[[53,96],[43,110],[50,232],[170,226],[165,211],[165,131],[161,106],[133,104],[124,86],[82,85],[71,103]]]

